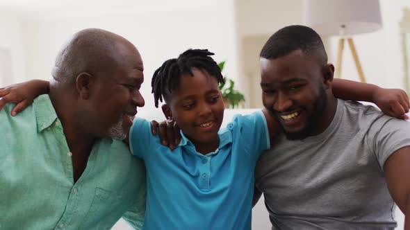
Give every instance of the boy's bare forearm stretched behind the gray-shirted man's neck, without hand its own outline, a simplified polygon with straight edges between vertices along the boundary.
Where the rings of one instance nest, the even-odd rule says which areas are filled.
[[[352,80],[334,79],[332,83],[334,96],[343,100],[362,100],[374,103],[377,89],[379,89],[377,85]]]

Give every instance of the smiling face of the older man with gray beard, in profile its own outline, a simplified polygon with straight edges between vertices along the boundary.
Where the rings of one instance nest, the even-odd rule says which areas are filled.
[[[124,139],[129,132],[129,119],[137,113],[137,107],[145,104],[140,94],[144,81],[140,53],[129,42],[117,45],[115,57],[117,68],[95,79],[95,90],[91,97],[92,123],[99,136]]]

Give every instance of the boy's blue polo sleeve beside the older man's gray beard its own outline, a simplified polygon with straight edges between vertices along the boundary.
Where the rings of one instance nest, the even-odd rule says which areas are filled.
[[[129,131],[129,148],[131,154],[144,159],[152,149],[154,136],[151,134],[151,123],[144,118],[136,118]]]

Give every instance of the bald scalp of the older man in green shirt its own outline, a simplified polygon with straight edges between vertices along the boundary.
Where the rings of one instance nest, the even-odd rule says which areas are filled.
[[[83,72],[99,76],[115,71],[120,64],[117,50],[124,45],[135,48],[124,37],[107,30],[81,30],[60,49],[51,75],[58,83],[65,83],[74,82]]]

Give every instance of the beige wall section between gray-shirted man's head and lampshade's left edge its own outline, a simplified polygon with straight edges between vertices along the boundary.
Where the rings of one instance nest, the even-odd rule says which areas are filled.
[[[246,107],[263,107],[259,87],[259,52],[266,40],[284,26],[302,23],[302,0],[236,1],[239,89]]]

